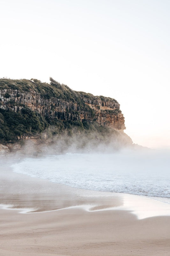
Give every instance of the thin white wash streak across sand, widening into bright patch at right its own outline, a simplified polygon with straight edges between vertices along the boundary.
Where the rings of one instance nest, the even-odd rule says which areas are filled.
[[[104,192],[105,193],[105,192]],[[112,193],[112,192],[111,192]],[[123,193],[118,193],[123,194]],[[115,196],[115,195],[114,195]],[[85,212],[99,212],[99,211],[128,211],[131,214],[137,217],[137,220],[142,220],[146,218],[152,217],[170,217],[170,206],[166,205],[166,203],[160,202],[157,203],[157,200],[150,198],[153,201],[147,200],[145,196],[133,198],[130,194],[123,194],[122,198],[124,200],[123,205],[121,206],[112,206],[112,205],[101,205],[100,204],[75,204],[71,206],[65,206],[63,208],[58,209],[39,209],[39,208],[28,208],[22,207],[22,205],[14,205],[14,204],[0,204],[0,210],[15,210],[16,212],[24,213],[24,214],[34,214],[34,213],[44,213],[44,212],[57,212],[67,209],[81,209]],[[116,196],[115,196],[116,198]],[[125,200],[126,198],[126,200]],[[139,200],[140,199],[140,200]],[[129,203],[130,202],[130,203]],[[159,201],[158,201],[159,202]],[[147,207],[147,209],[146,209]]]

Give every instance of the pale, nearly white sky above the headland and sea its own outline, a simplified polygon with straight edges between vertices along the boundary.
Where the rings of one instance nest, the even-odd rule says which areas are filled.
[[[134,143],[170,148],[169,0],[1,0],[0,77],[115,98]]]

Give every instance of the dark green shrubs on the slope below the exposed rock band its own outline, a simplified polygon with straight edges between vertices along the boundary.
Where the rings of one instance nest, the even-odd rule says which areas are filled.
[[[21,112],[0,109],[0,143],[15,142],[25,136],[36,136],[46,131],[47,139],[60,136],[63,132],[72,136],[78,134],[95,134],[97,140],[102,140],[109,134],[109,129],[100,126],[95,121],[62,121],[58,119],[46,120],[40,114],[29,108],[22,108]]]

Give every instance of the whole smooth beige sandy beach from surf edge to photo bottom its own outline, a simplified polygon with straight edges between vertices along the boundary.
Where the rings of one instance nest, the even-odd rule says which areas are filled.
[[[170,216],[139,218],[135,208],[123,208],[131,201],[146,214],[153,201],[158,208],[168,204],[31,178],[9,164],[1,165],[0,180],[2,256],[169,256]]]

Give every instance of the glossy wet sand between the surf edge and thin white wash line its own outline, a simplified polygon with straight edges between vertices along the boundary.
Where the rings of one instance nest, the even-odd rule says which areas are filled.
[[[144,216],[146,216],[146,218],[152,217],[152,216],[170,216],[170,198],[168,197],[143,196],[143,195],[134,195],[134,194],[127,194],[127,193],[119,193],[119,192],[107,192],[107,191],[99,191],[99,190],[89,190],[84,188],[75,188],[69,185],[55,183],[49,180],[34,178],[26,174],[13,172],[9,164],[5,164],[4,167],[6,168],[6,171],[9,172],[9,175],[12,175],[12,177],[10,177],[12,183],[13,182],[17,182],[17,183],[16,183],[16,186],[11,185],[11,181],[9,181],[9,178],[7,179],[5,177],[6,173],[4,173],[4,176],[3,176],[2,175],[3,172],[1,172],[0,179],[1,180],[4,179],[4,183],[6,183],[6,188],[10,187],[11,192],[9,192],[8,190],[8,193],[5,193],[5,190],[7,189],[4,189],[4,191],[1,191],[4,185],[2,186],[2,184],[0,183],[0,188],[1,188],[0,195],[2,195],[2,192],[4,193],[3,198],[2,196],[0,197],[0,200],[1,200],[0,209],[5,208],[5,209],[11,210],[11,209],[20,208],[25,213],[57,211],[57,210],[66,209],[70,207],[76,207],[78,205],[82,208],[84,206],[84,208],[88,209],[89,204],[87,202],[89,202],[89,199],[90,199],[89,209],[101,208],[103,210],[104,209],[115,210],[119,208],[120,210],[129,210],[133,214],[136,214],[136,216],[139,219],[141,219],[142,214],[144,212],[144,206],[147,205],[147,214],[143,214]],[[22,184],[23,182],[24,184]],[[37,187],[37,184],[38,184],[38,187]],[[19,190],[18,188],[16,189],[16,187],[19,187]],[[35,189],[35,187],[37,187],[37,189]],[[31,194],[30,194],[30,191],[31,191]],[[5,194],[6,194],[6,197],[5,197]],[[19,202],[19,204],[16,204],[15,202],[16,198],[11,198],[10,194],[18,195],[17,201]],[[58,203],[58,201],[57,201],[58,203],[57,206],[55,205],[56,199],[54,199],[54,197],[58,196],[58,194],[60,194],[61,201],[62,200],[65,201],[64,207],[63,207],[63,202],[61,202],[62,206],[61,204]],[[36,204],[34,204],[31,207],[30,205],[23,204],[24,201],[25,202],[28,201],[27,199],[29,199],[29,204],[31,200],[32,202],[42,201],[44,204],[45,200],[42,200],[42,196],[44,197],[48,196],[48,200],[51,198],[54,201],[53,206],[50,206],[50,207],[53,207],[52,209],[51,208],[48,209],[48,205],[45,205],[45,208],[43,205],[44,209],[42,209],[42,204],[37,206]],[[100,202],[96,201],[97,197],[98,198],[100,197]],[[118,203],[118,200],[117,200],[117,203],[114,204],[114,206],[112,206],[111,200],[113,198],[114,200],[115,198],[119,198],[119,201],[121,203],[120,202]],[[107,205],[105,201],[107,201]],[[135,206],[138,201],[139,201],[140,207],[139,205]],[[15,204],[13,204],[13,202],[15,202]],[[8,204],[10,204],[11,206],[6,207],[6,205]],[[102,206],[102,204],[104,204],[104,206]],[[142,209],[141,209],[141,206],[142,206]],[[155,212],[157,208],[159,209],[162,208],[162,209],[159,210],[158,212]],[[31,209],[31,210],[26,211],[26,209]]]

